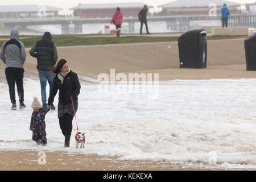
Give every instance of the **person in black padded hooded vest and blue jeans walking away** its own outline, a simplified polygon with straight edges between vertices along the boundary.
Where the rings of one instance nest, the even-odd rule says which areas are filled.
[[[58,59],[57,48],[55,43],[52,42],[52,35],[50,32],[45,32],[42,40],[39,40],[30,49],[30,55],[36,57],[38,60],[38,69],[40,85],[41,85],[41,96],[43,107],[46,107],[46,84],[48,81],[49,89],[52,88],[53,73],[52,68],[56,64]],[[55,109],[52,104],[51,109]]]

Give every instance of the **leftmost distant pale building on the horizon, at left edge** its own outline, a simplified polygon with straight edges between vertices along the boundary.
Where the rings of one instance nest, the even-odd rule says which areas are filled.
[[[0,6],[0,18],[35,18],[45,10],[45,16],[59,16],[59,8],[39,5],[12,5]]]

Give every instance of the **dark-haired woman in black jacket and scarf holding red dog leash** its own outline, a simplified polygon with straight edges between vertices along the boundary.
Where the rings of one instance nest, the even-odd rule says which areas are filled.
[[[65,137],[64,146],[69,147],[73,127],[72,120],[78,108],[77,97],[79,96],[81,85],[77,74],[68,68],[68,63],[64,59],[59,60],[57,65],[53,67],[53,73],[55,73],[56,76],[53,78],[47,108],[51,109],[54,97],[59,90],[58,118],[61,132]],[[74,103],[75,113],[73,111],[71,97]]]

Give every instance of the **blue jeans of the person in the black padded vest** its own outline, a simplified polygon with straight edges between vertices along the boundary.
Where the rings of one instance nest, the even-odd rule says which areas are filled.
[[[40,79],[40,85],[41,85],[41,96],[42,96],[42,102],[43,106],[46,107],[46,84],[48,81],[49,84],[49,90],[52,88],[52,82],[53,82],[53,73],[51,71],[38,71],[39,79]]]

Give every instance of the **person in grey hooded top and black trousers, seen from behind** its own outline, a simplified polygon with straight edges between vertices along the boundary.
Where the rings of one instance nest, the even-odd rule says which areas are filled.
[[[3,63],[6,64],[5,75],[6,80],[9,85],[9,94],[11,98],[11,103],[13,106],[12,110],[16,110],[16,100],[15,100],[15,82],[18,90],[19,96],[19,108],[24,109],[24,89],[23,89],[23,64],[26,60],[26,51],[24,44],[19,41],[18,30],[11,30],[10,40],[3,43],[0,52],[0,58]]]

